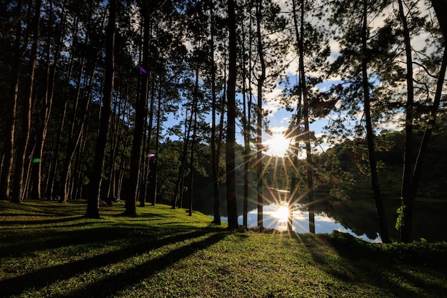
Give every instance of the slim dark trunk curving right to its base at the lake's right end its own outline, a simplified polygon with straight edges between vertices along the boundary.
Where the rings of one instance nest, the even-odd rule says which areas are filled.
[[[371,173],[371,184],[373,186],[374,202],[376,203],[376,212],[378,217],[378,228],[383,243],[390,243],[390,237],[388,235],[388,225],[386,221],[385,208],[383,207],[382,195],[380,185],[378,183],[377,163],[376,163],[376,150],[374,148],[374,131],[371,122],[371,99],[369,96],[369,82],[368,82],[368,61],[367,61],[367,32],[368,32],[368,1],[363,0],[363,24],[362,24],[362,52],[363,58],[361,60],[362,71],[362,85],[363,85],[363,108],[365,112],[365,125],[366,125],[366,141],[368,143],[368,159],[369,169]]]

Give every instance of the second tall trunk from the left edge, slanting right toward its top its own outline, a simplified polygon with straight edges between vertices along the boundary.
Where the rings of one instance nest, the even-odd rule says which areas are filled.
[[[29,133],[31,130],[31,106],[32,106],[32,98],[33,98],[33,89],[34,89],[34,72],[36,68],[37,61],[37,46],[39,42],[39,33],[40,33],[40,19],[41,19],[41,5],[42,1],[36,1],[36,15],[34,16],[33,24],[29,24],[33,26],[34,36],[33,36],[33,45],[31,46],[31,56],[29,61],[29,82],[28,82],[28,93],[24,96],[24,102],[22,106],[22,130],[21,130],[21,140],[19,142],[19,148],[16,154],[16,169],[14,175],[14,202],[21,202],[24,197],[24,174],[25,170],[28,168],[26,166],[26,162],[28,158],[26,156],[26,151],[28,149],[29,143]]]

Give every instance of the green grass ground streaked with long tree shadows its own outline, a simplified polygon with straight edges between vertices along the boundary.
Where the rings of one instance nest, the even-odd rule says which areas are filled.
[[[228,232],[169,206],[0,202],[0,297],[445,297],[447,244]]]

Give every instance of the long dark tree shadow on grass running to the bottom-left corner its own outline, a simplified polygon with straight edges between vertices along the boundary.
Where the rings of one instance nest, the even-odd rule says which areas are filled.
[[[96,267],[106,266],[108,264],[113,264],[115,262],[121,262],[123,260],[126,260],[129,257],[143,254],[144,252],[149,252],[150,250],[155,250],[159,247],[163,247],[165,245],[170,245],[176,242],[182,242],[189,239],[194,239],[197,237],[201,237],[207,234],[214,233],[215,235],[211,236],[211,240],[218,241],[219,239],[222,239],[225,237],[226,233],[216,232],[216,230],[213,230],[211,228],[204,228],[201,230],[196,230],[194,232],[184,233],[181,235],[175,235],[172,237],[166,237],[161,240],[146,240],[141,242],[141,239],[139,239],[139,243],[136,245],[130,245],[128,247],[124,247],[121,250],[116,250],[113,252],[107,252],[103,255],[97,255],[95,257],[90,257],[85,260],[79,260],[76,262],[71,262],[69,264],[60,264],[54,267],[46,267],[44,269],[39,269],[34,272],[29,272],[27,274],[23,274],[19,277],[12,277],[9,279],[4,279],[0,281],[0,293],[2,297],[9,297],[11,295],[18,295],[22,292],[29,290],[29,289],[39,289],[41,287],[46,286],[47,284],[51,284],[53,282],[56,282],[57,280],[63,280],[63,279],[69,279],[71,277],[74,277],[78,274],[81,274],[82,272],[89,271],[91,269],[94,269]],[[147,239],[147,237],[146,237]],[[210,241],[211,241],[210,240]],[[137,240],[136,240],[137,241]],[[184,253],[188,252],[188,255],[191,253],[191,250],[194,245],[188,245],[186,247],[181,247],[179,250],[174,250],[173,252],[176,252],[176,255],[178,257],[182,257]],[[187,249],[187,247],[190,247]],[[199,248],[199,247],[198,247]],[[185,250],[185,252],[183,252]],[[182,251],[182,252],[181,252]],[[57,256],[55,256],[57,257]],[[171,262],[171,258],[174,258],[175,256],[172,255],[172,252],[169,253],[169,255],[166,255],[165,257],[161,257],[163,260],[159,260],[157,262]],[[177,259],[179,260],[179,259]],[[165,266],[166,264],[163,264],[162,266]],[[156,264],[151,264],[151,266],[156,267]],[[158,266],[158,265],[157,265]],[[137,267],[139,268],[139,267]],[[131,272],[134,272],[134,278],[135,276],[139,276],[141,273],[140,269],[131,269],[130,272],[126,271],[126,274],[132,274]],[[129,275],[130,276],[130,275]],[[124,277],[125,280],[127,280],[127,277]],[[104,282],[104,281],[101,281]],[[114,280],[109,280],[109,283],[116,282],[115,277]],[[89,294],[86,294],[85,297],[90,296]],[[83,297],[81,294],[77,294],[77,296],[74,297]],[[100,297],[100,296],[98,296]]]

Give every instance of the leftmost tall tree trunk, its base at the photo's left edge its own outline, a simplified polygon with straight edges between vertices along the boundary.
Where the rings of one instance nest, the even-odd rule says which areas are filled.
[[[0,199],[9,200],[9,186],[11,180],[11,169],[14,160],[14,132],[16,128],[16,106],[19,95],[20,69],[22,61],[22,51],[20,49],[22,24],[21,21],[21,1],[17,1],[16,6],[16,40],[14,43],[14,67],[11,75],[11,89],[9,91],[8,103],[6,105],[6,134],[4,139],[4,158],[2,160],[0,178]]]

